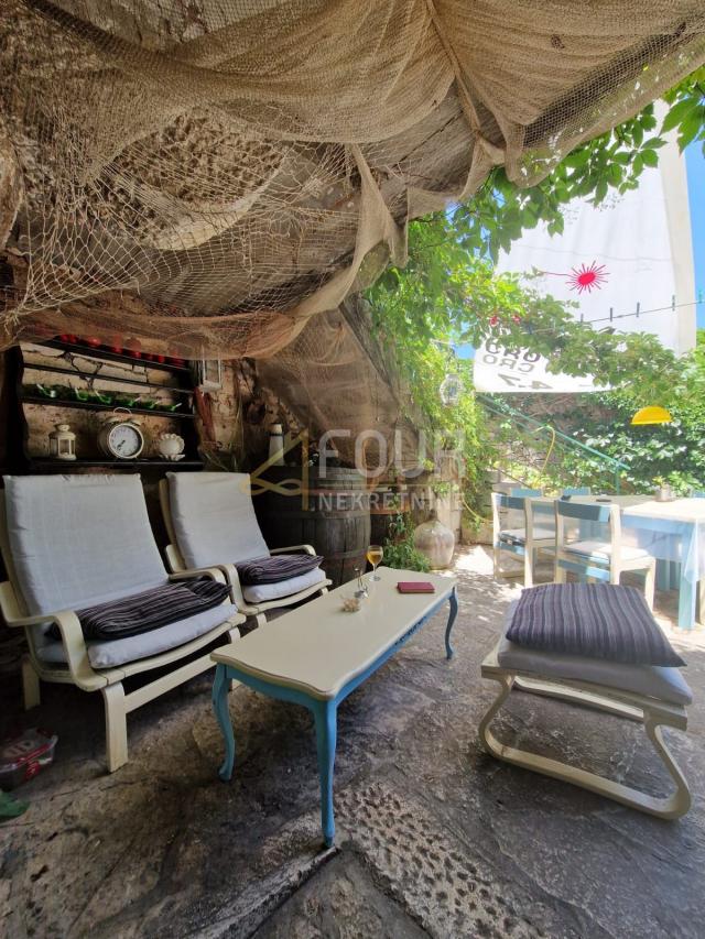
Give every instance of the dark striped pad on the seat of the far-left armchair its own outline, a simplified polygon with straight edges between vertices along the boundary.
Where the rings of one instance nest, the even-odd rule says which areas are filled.
[[[76,615],[87,640],[119,640],[187,620],[218,607],[228,596],[227,585],[199,577],[87,607]],[[50,632],[61,638],[56,625]]]

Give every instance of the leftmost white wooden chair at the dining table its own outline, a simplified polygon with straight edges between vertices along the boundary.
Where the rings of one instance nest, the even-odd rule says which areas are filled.
[[[524,587],[533,586],[535,555],[540,550],[553,550],[555,531],[552,520],[535,522],[530,496],[506,495],[492,492],[492,546],[495,577],[517,577],[518,570],[501,566],[502,554],[513,555],[523,560]],[[550,503],[549,503],[550,504]],[[506,527],[502,525],[502,511],[521,512],[523,525]]]

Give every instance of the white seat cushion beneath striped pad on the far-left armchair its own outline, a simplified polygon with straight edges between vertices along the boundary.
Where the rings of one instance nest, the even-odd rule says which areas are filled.
[[[234,616],[237,611],[237,607],[232,603],[223,603],[214,607],[213,610],[204,610],[195,616],[188,616],[186,620],[180,620],[137,636],[110,642],[87,642],[88,658],[94,668],[115,668],[118,665],[148,658],[150,655],[159,655],[205,635]],[[66,662],[64,645],[57,641],[39,648],[37,655],[47,664]]]

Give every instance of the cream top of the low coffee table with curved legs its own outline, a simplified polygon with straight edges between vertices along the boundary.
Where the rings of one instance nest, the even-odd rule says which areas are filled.
[[[355,582],[324,593],[213,653],[215,662],[240,672],[330,699],[369,668],[438,601],[447,598],[455,577],[378,568],[370,597],[355,613],[343,610],[343,596]],[[369,578],[369,575],[366,576]],[[426,580],[435,593],[399,593],[400,580]]]

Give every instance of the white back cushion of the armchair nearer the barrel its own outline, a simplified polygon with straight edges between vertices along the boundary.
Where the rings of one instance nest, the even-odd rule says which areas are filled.
[[[174,532],[187,567],[269,555],[248,473],[170,472],[166,477]]]

